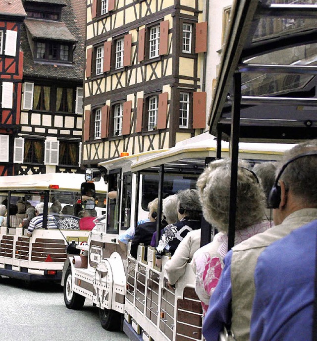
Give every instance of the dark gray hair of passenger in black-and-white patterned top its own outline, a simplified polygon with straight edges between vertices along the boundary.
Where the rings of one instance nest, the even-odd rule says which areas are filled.
[[[185,189],[177,192],[178,209],[185,210],[185,216],[189,219],[199,219],[202,211],[202,205],[199,201],[198,191],[196,189]]]

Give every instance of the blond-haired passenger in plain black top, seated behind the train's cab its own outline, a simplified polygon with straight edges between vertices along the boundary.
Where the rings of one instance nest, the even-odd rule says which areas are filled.
[[[132,257],[137,258],[138,245],[143,243],[144,246],[151,244],[153,233],[157,229],[157,217],[158,217],[158,198],[155,198],[148,204],[149,219],[150,221],[141,225],[138,225],[135,229],[135,234],[132,239],[130,254]]]

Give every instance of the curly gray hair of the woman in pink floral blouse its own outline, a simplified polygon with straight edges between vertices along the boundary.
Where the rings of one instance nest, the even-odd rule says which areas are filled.
[[[238,161],[236,230],[263,221],[265,196],[248,163]],[[231,185],[231,161],[220,159],[211,162],[197,180],[197,188],[207,222],[227,233]]]

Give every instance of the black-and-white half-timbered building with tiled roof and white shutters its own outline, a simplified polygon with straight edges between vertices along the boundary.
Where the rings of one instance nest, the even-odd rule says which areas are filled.
[[[80,170],[85,0],[24,0],[15,173]]]

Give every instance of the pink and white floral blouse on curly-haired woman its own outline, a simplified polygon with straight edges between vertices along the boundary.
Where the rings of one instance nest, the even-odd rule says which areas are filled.
[[[264,222],[236,231],[235,245],[257,233],[264,232],[270,226],[270,222]],[[211,243],[201,247],[194,253],[192,266],[196,273],[195,290],[202,302],[204,315],[207,312],[210,297],[224,267],[223,258],[227,253],[227,249],[228,236],[223,232],[219,232],[214,236]]]

